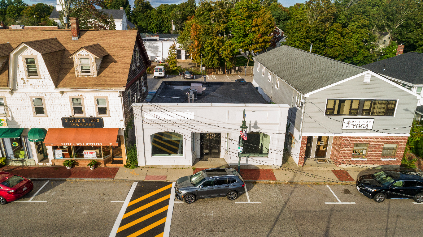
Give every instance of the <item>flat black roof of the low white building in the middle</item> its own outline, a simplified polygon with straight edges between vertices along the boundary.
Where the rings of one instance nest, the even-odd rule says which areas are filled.
[[[190,81],[164,81],[151,99],[151,103],[188,103]],[[207,82],[195,103],[268,104],[250,82]]]

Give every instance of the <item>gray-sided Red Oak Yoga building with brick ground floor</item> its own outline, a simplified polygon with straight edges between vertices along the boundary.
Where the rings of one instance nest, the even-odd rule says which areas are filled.
[[[288,104],[286,144],[299,165],[399,165],[419,94],[365,68],[281,46],[254,57],[253,84]]]

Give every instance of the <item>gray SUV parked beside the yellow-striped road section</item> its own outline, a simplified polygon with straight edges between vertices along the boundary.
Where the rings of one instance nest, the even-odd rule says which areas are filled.
[[[175,196],[190,204],[201,198],[224,197],[235,200],[245,193],[245,182],[235,169],[204,169],[176,180]]]

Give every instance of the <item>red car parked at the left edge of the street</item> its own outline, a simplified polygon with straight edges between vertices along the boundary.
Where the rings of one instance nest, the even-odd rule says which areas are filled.
[[[32,191],[31,180],[9,172],[0,172],[0,204],[12,202]]]

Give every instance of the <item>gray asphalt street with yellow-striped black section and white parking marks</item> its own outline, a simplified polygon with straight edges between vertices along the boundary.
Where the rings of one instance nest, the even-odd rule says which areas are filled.
[[[0,206],[2,236],[109,236],[116,220],[118,237],[156,237],[166,232],[171,182],[33,183],[33,191],[19,202]],[[235,201],[212,198],[186,204],[175,199],[170,236],[423,234],[423,204],[413,204],[412,199],[376,203],[354,185],[247,183],[246,187],[247,193]]]

